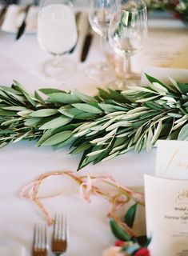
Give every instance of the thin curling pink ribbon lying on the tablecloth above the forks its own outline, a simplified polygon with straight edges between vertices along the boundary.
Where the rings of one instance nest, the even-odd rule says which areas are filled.
[[[108,217],[112,217],[116,220],[116,222],[120,223],[126,231],[134,235],[134,232],[132,229],[130,229],[129,226],[126,226],[124,222],[121,222],[121,220],[117,216],[117,211],[120,207],[124,206],[127,202],[130,202],[130,199],[132,199],[134,202],[138,202],[139,204],[144,204],[144,194],[138,193],[134,190],[130,190],[129,188],[125,186],[120,186],[118,182],[114,180],[113,177],[109,175],[99,175],[99,176],[93,176],[93,175],[78,175],[75,174],[73,171],[54,171],[49,172],[46,174],[42,174],[39,178],[35,179],[33,182],[30,182],[26,184],[26,186],[23,186],[20,194],[24,198],[28,198],[31,201],[33,201],[39,209],[42,211],[42,214],[45,215],[46,221],[50,225],[54,220],[50,215],[49,210],[46,209],[46,207],[42,204],[41,200],[46,198],[54,198],[58,197],[64,192],[56,193],[56,194],[48,194],[45,196],[40,196],[40,188],[42,186],[42,183],[47,179],[54,176],[61,176],[66,175],[69,178],[72,178],[75,182],[79,185],[79,192],[82,195],[82,198],[84,198],[87,202],[91,202],[90,195],[96,194],[98,196],[101,196],[102,198],[106,198],[108,202],[110,202],[110,212],[107,214]],[[100,186],[100,185],[101,186]],[[106,190],[102,185],[108,185],[111,188],[113,188],[113,191]]]

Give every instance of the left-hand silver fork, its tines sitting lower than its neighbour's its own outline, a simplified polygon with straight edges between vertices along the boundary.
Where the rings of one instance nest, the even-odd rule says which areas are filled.
[[[42,223],[35,223],[32,256],[46,256],[47,254],[48,244],[46,225]]]

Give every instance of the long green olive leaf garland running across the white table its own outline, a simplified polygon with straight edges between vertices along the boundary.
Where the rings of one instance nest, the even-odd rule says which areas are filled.
[[[188,140],[188,84],[146,77],[148,86],[98,89],[95,97],[49,88],[32,96],[18,82],[0,86],[0,147],[22,139],[70,145],[71,154],[82,153],[80,170],[130,150],[150,151],[158,138]]]

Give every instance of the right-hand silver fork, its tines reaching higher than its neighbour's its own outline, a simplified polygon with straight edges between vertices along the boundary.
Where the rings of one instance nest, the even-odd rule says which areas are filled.
[[[61,255],[67,249],[67,222],[64,214],[55,214],[54,231],[51,250],[55,255]]]

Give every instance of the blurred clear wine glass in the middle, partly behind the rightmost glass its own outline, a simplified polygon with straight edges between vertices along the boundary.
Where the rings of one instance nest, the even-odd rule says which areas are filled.
[[[89,22],[90,26],[100,36],[100,49],[103,54],[104,42],[108,37],[110,18],[116,0],[90,0]],[[106,62],[91,65],[86,69],[86,76],[94,81],[104,81],[109,77],[110,66]]]

